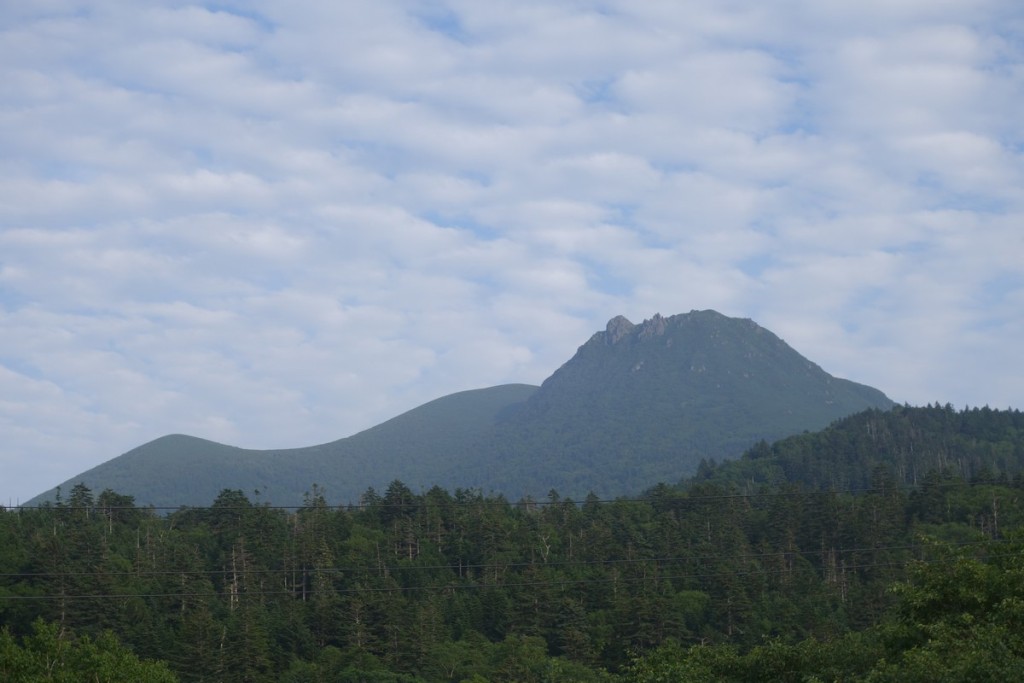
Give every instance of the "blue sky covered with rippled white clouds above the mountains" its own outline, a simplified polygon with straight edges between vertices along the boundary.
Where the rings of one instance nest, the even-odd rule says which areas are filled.
[[[1024,409],[1019,0],[0,4],[0,504],[749,317]],[[396,473],[400,478],[400,473]]]

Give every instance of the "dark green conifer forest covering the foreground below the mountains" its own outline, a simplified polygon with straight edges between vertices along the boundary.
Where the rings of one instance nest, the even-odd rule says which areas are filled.
[[[904,407],[613,500],[76,485],[0,513],[0,679],[1022,680],[1021,464]]]

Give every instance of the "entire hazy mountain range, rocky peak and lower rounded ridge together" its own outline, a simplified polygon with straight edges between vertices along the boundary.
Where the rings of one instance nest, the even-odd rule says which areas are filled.
[[[884,393],[837,379],[752,321],[713,310],[640,325],[612,318],[540,387],[438,398],[372,429],[303,449],[252,451],[159,438],[61,484],[157,506],[208,505],[222,488],[295,505],[313,483],[358,501],[393,479],[518,498],[636,493],[865,409]],[[52,500],[54,490],[30,503]]]

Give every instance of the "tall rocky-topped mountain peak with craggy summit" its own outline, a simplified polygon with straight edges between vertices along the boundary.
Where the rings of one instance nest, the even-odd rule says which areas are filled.
[[[820,429],[881,391],[837,379],[752,321],[713,310],[641,325],[612,318],[499,425],[484,485],[530,473],[529,490],[614,495],[735,457],[759,439]],[[532,462],[532,454],[546,457]]]

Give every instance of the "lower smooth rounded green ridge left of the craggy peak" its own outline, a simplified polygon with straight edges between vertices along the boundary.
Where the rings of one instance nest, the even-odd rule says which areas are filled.
[[[67,494],[83,482],[94,492],[112,488],[144,505],[209,505],[224,488],[260,500],[296,505],[312,484],[332,501],[355,503],[368,486],[396,477],[430,485],[430,465],[443,467],[473,457],[497,415],[521,403],[536,386],[507,384],[461,391],[429,401],[347,438],[300,449],[256,451],[194,436],[162,436],[60,484]],[[423,479],[420,478],[422,471]],[[50,489],[28,505],[54,500]]]

